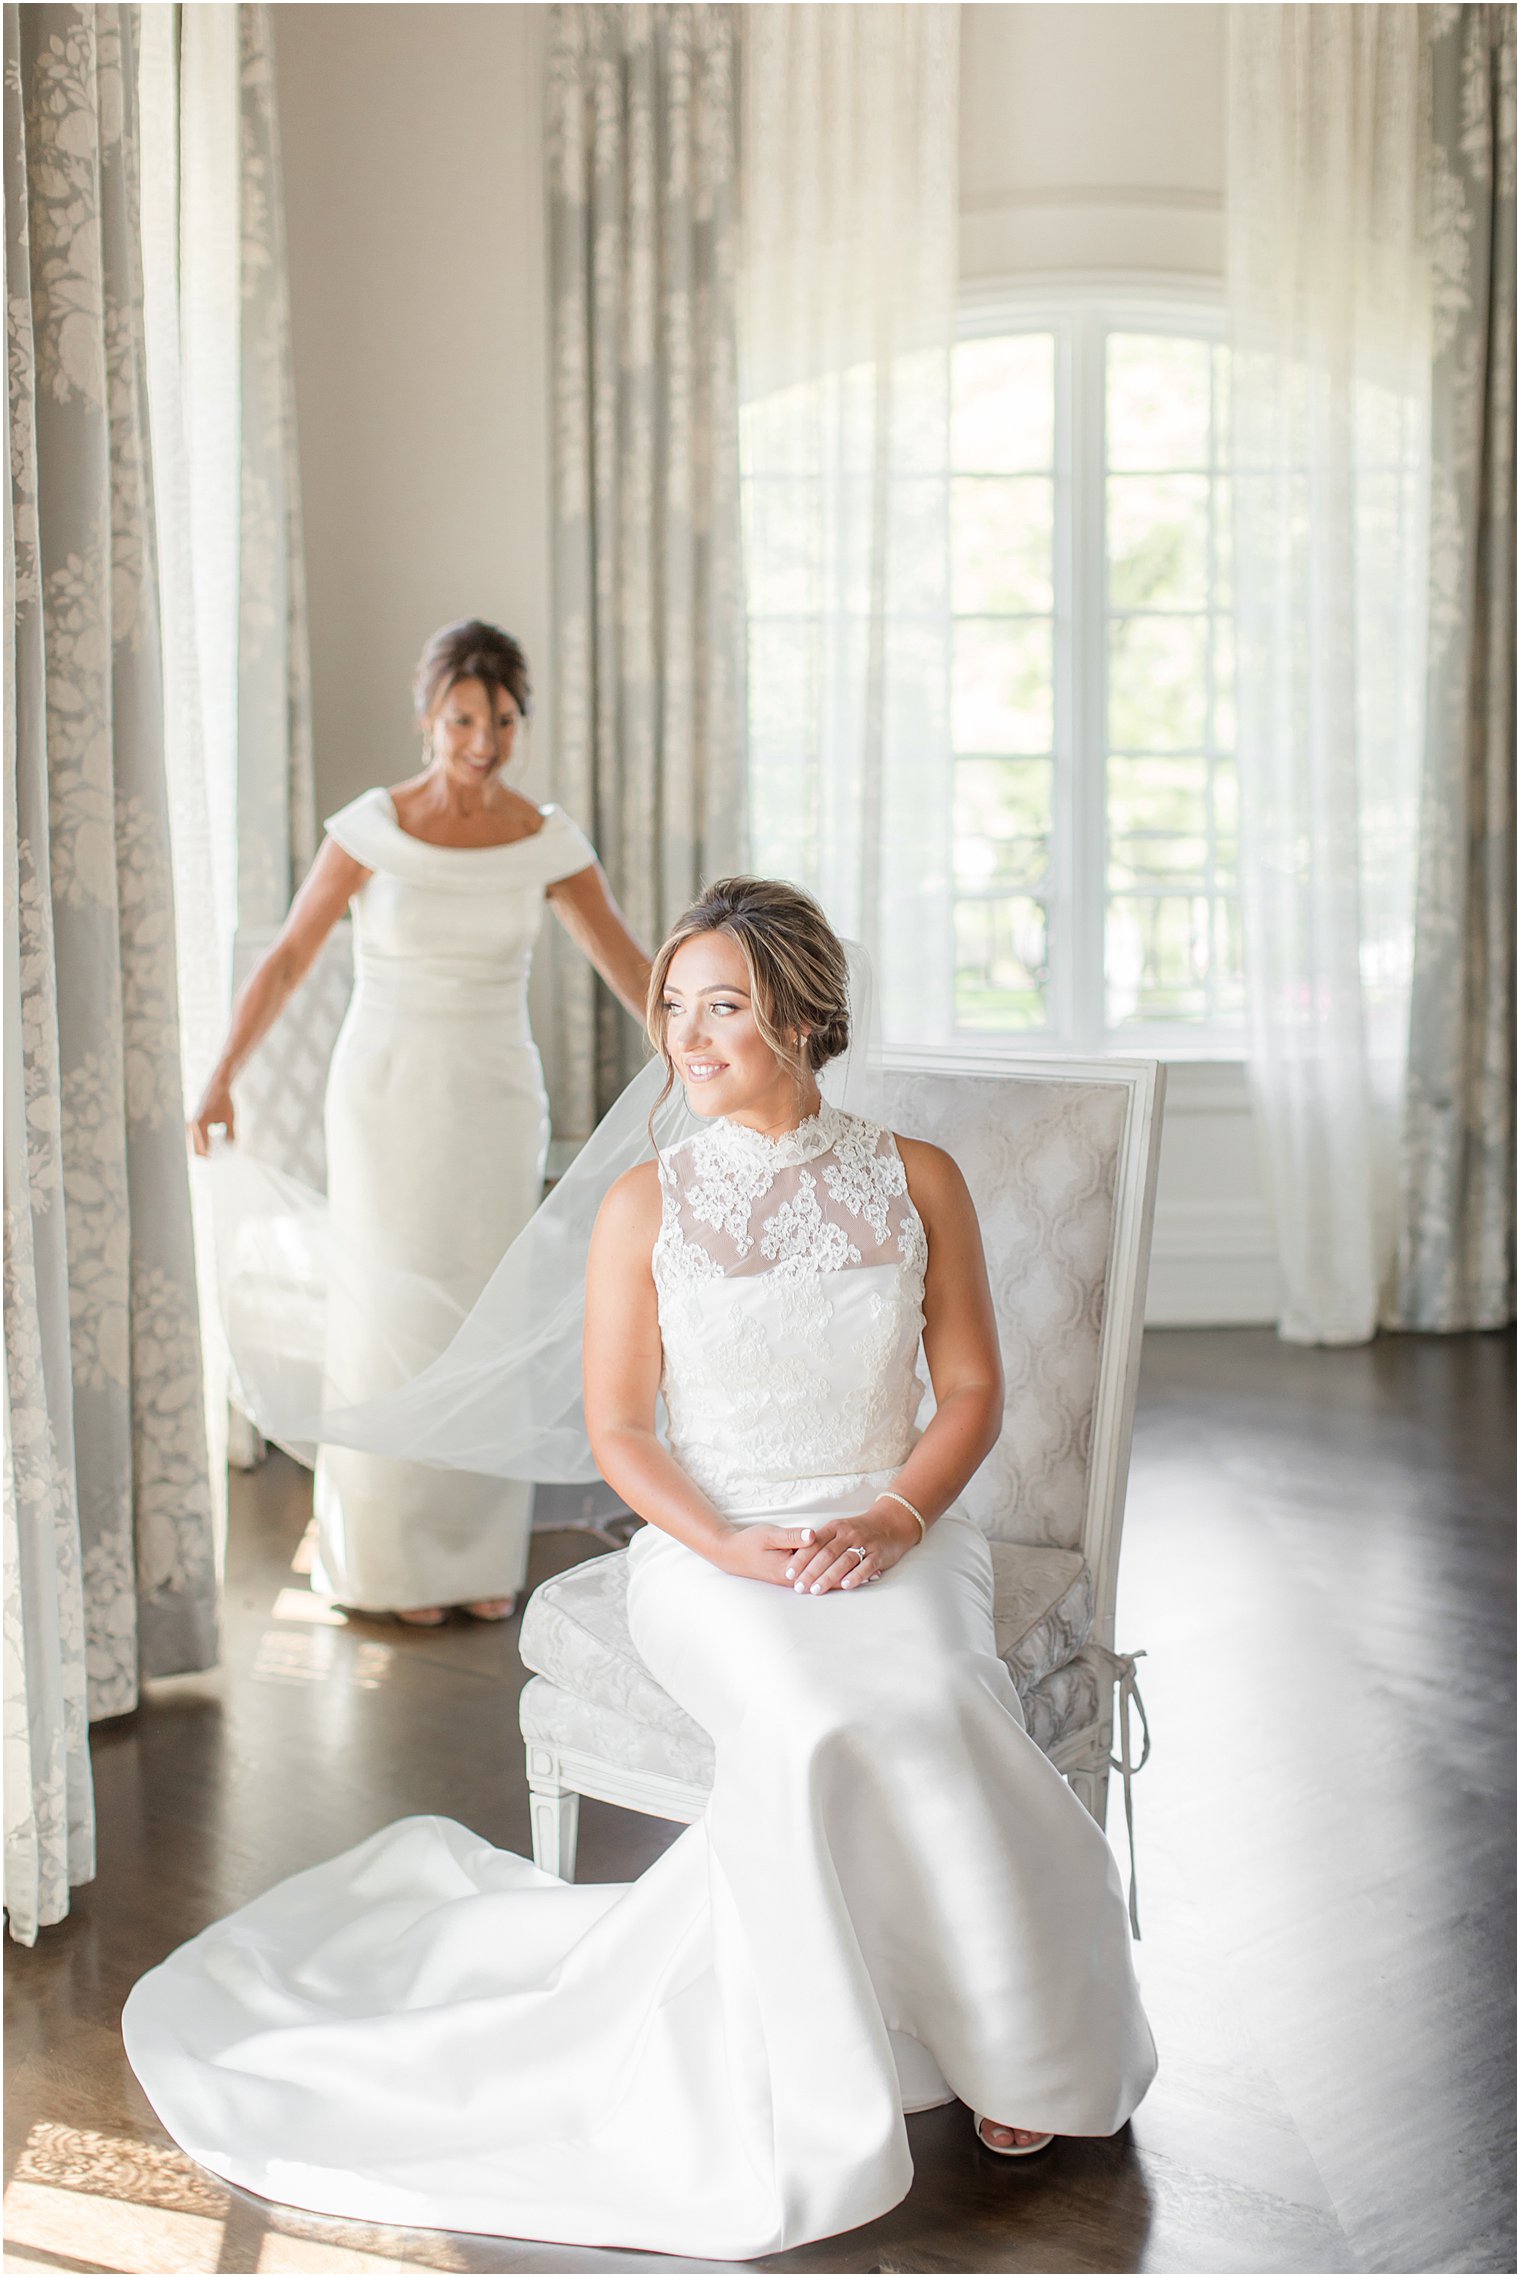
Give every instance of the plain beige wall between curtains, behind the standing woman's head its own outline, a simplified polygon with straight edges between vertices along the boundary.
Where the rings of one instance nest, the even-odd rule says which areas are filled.
[[[416,765],[435,626],[548,717],[542,7],[278,7],[319,811]],[[542,786],[542,758],[528,781]]]

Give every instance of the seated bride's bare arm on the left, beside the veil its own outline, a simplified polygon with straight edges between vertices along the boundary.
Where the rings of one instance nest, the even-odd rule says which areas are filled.
[[[660,1173],[626,1170],[596,1211],[585,1273],[585,1421],[596,1469],[651,1526],[685,1542],[724,1573],[776,1580],[799,1535],[730,1526],[655,1435],[660,1312],[651,1255],[660,1232]]]

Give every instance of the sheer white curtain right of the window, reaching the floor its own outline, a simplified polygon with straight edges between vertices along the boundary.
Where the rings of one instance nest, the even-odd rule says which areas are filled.
[[[1229,20],[1251,1077],[1302,1343],[1374,1332],[1397,1246],[1429,613],[1422,18]]]

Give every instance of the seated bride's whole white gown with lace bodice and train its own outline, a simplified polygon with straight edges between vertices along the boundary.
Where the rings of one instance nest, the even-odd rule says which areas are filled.
[[[831,1107],[664,1157],[671,1448],[721,1510],[890,1485],[924,1261],[894,1141]],[[127,2001],[175,2140],[325,2213],[749,2259],[897,2204],[903,2109],[1122,2127],[1154,2049],[1117,1867],[1024,1733],[972,1521],[819,1598],[655,1528],[630,1564],[639,1653],[717,1742],[705,1819],[626,1888],[430,1817],[280,1883]]]

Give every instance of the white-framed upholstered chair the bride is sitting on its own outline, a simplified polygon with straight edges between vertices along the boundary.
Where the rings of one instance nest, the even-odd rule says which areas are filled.
[[[992,1542],[997,1646],[1029,1733],[1099,1824],[1110,1767],[1126,1810],[1138,1769],[1135,1655],[1115,1651],[1113,1617],[1160,1102],[1151,1061],[922,1054],[887,1077],[885,1120],[956,1157],[981,1218],[1008,1396],[965,1505]],[[712,1783],[708,1735],[633,1649],[626,1564],[555,1573],[523,1614],[532,1856],[564,1879],[583,1794],[689,1822]]]

